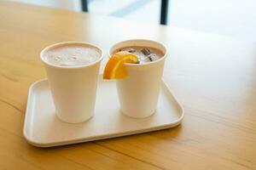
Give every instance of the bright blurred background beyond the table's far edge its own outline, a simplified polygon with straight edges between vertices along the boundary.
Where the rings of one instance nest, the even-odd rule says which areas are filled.
[[[176,26],[256,42],[256,0],[11,1],[73,11],[88,11],[149,25]]]

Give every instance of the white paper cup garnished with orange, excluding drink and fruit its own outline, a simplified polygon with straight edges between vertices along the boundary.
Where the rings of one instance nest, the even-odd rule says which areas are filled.
[[[117,80],[122,113],[126,116],[143,118],[151,116],[156,111],[167,49],[160,42],[134,39],[116,43],[110,48],[109,55],[119,48],[130,46],[157,48],[165,54],[162,58],[145,64],[125,64],[128,77]]]

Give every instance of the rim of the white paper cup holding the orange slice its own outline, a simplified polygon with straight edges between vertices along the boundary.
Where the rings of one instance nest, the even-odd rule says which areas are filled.
[[[166,59],[166,56],[167,56],[167,54],[168,54],[168,49],[166,48],[166,45],[163,44],[162,42],[158,42],[158,41],[154,41],[154,40],[150,40],[150,39],[128,39],[128,40],[125,40],[125,41],[116,42],[116,43],[114,43],[114,44],[111,46],[111,48],[109,48],[109,50],[108,50],[108,57],[110,57],[110,56],[112,55],[112,54],[111,54],[112,48],[113,48],[114,46],[117,46],[119,43],[124,43],[124,42],[137,42],[137,41],[145,41],[145,42],[154,42],[154,43],[158,43],[158,44],[160,44],[160,46],[162,46],[162,47],[166,50],[166,52],[165,52],[165,54],[164,54],[163,57],[161,57],[160,59],[157,59],[157,60],[155,60],[155,61],[150,61],[150,62],[148,62],[148,63],[143,63],[143,64],[125,63],[125,65],[129,65],[129,66],[154,65],[155,63],[158,63],[158,62],[160,62],[161,60]]]

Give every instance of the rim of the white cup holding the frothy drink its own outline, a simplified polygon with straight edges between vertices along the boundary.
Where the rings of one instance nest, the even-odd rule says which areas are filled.
[[[73,65],[73,66],[61,66],[61,65],[54,65],[54,64],[51,64],[49,62],[47,62],[45,59],[44,59],[44,53],[46,51],[48,51],[50,48],[55,48],[55,47],[58,47],[58,46],[61,46],[61,45],[66,45],[66,44],[83,44],[83,45],[87,45],[87,46],[91,46],[93,48],[97,48],[100,53],[101,53],[101,56],[96,59],[95,61],[87,64],[87,65]],[[56,42],[56,43],[53,43],[45,48],[43,48],[40,52],[40,59],[41,61],[45,64],[45,65],[49,65],[49,66],[52,66],[52,67],[55,67],[55,68],[60,68],[60,69],[79,69],[79,68],[85,68],[85,67],[89,67],[91,65],[96,65],[96,63],[100,62],[102,59],[103,59],[103,51],[102,51],[102,48],[99,48],[97,47],[95,44],[93,43],[90,43],[90,42]]]

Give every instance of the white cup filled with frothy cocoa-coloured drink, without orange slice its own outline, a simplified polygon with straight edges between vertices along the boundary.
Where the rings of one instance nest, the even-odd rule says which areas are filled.
[[[55,103],[63,122],[78,123],[94,115],[102,50],[84,42],[55,43],[41,52]]]

